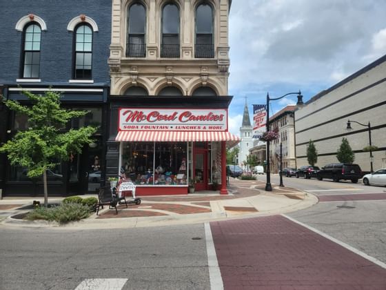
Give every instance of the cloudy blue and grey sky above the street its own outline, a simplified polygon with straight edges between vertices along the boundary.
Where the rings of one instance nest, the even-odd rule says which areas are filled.
[[[303,101],[386,55],[386,0],[233,0],[230,131],[240,135],[245,97],[301,90]],[[296,95],[270,102],[272,116]],[[252,124],[253,125],[253,124]]]

